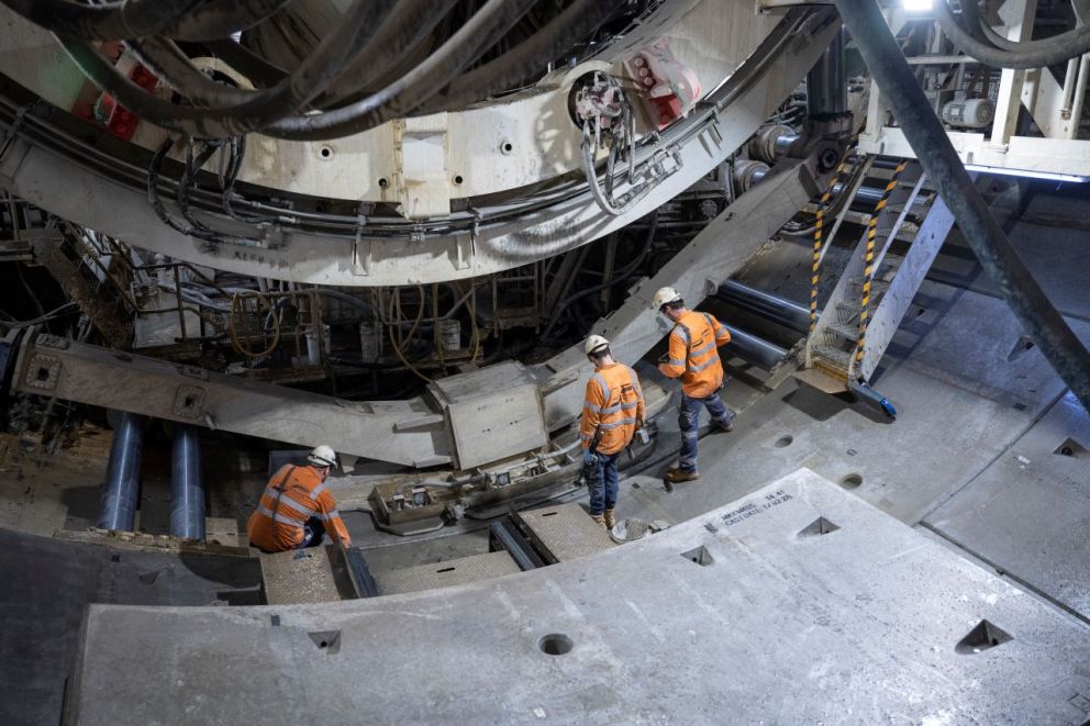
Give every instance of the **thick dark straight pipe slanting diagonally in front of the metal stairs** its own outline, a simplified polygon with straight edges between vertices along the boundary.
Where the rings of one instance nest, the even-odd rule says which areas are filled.
[[[1090,411],[1090,354],[989,212],[901,55],[878,4],[875,0],[835,2],[882,97],[892,107],[916,158],[953,212],[980,265],[1045,359]]]

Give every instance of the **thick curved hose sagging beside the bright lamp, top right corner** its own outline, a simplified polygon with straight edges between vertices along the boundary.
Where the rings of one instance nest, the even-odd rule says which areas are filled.
[[[972,13],[972,11],[969,12]],[[946,4],[946,0],[938,0],[935,3],[935,14],[943,33],[959,51],[982,64],[997,68],[1044,68],[1058,63],[1067,63],[1071,58],[1090,53],[1090,25],[1083,25],[1043,41],[1026,41],[1017,44],[1004,41],[1008,47],[1017,48],[1004,49],[974,37],[971,33],[961,27],[949,5]],[[978,25],[980,25],[981,31],[987,27],[982,24]]]

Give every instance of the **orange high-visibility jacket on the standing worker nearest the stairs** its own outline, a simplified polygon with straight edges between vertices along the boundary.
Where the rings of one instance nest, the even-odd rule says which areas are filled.
[[[670,331],[669,360],[660,370],[670,378],[681,377],[681,391],[693,399],[711,395],[723,386],[721,345],[731,334],[714,315],[690,310]]]

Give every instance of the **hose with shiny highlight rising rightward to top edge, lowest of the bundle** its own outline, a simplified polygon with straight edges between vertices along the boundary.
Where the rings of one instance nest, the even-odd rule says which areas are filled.
[[[264,133],[292,141],[324,141],[358,134],[390,119],[405,116],[486,53],[486,43],[497,29],[510,29],[535,1],[488,0],[437,51],[381,91],[335,111],[283,119]]]

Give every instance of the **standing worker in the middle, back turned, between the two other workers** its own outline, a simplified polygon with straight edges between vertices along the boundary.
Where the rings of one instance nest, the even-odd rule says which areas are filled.
[[[594,364],[594,375],[587,381],[582,421],[583,468],[588,473],[590,516],[598,524],[612,528],[616,524],[618,472],[616,460],[636,429],[644,425],[644,393],[636,372],[613,360],[610,342],[591,335],[583,353]]]

